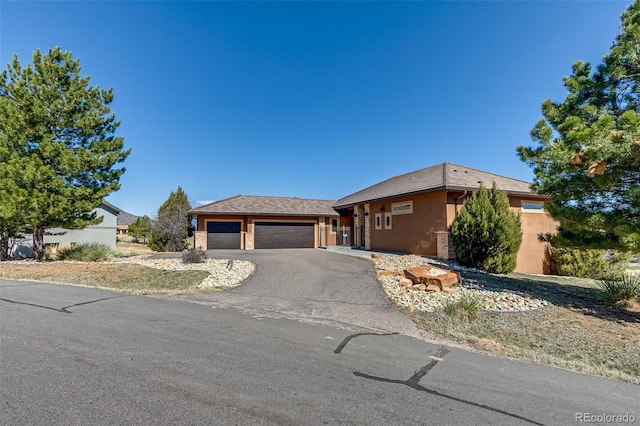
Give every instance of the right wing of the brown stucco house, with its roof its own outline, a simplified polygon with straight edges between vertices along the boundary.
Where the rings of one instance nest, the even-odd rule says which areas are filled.
[[[448,232],[453,219],[480,185],[491,188],[494,182],[522,220],[516,271],[543,273],[545,243],[538,236],[556,232],[558,223],[543,208],[548,198],[535,194],[529,182],[442,163],[347,195],[334,208],[353,216],[356,246],[450,259],[455,256]]]

